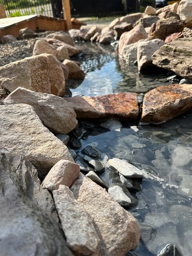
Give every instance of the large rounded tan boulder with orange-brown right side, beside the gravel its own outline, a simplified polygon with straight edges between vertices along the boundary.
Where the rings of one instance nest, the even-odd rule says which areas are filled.
[[[47,53],[0,67],[0,83],[9,92],[20,86],[35,92],[65,95],[66,81],[60,63]]]

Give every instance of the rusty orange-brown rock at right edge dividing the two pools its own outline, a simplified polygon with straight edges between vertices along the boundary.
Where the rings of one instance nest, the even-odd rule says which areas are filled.
[[[141,122],[162,123],[192,107],[192,84],[160,86],[145,94]]]

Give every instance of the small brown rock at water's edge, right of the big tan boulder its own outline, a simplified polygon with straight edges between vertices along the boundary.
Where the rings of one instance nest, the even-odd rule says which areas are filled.
[[[69,78],[84,79],[86,76],[82,69],[73,60],[65,59],[63,64],[69,68]]]

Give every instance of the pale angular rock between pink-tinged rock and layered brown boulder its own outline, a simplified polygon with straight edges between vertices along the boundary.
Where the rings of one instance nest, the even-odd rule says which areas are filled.
[[[150,41],[139,41],[137,46],[137,65],[139,72],[151,69],[154,64],[152,55],[164,45],[161,39],[153,39]]]

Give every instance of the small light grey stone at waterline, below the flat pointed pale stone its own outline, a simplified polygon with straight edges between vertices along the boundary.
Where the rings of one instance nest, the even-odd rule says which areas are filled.
[[[108,189],[110,196],[122,207],[132,208],[138,204],[138,199],[133,197],[122,183],[113,183]]]

